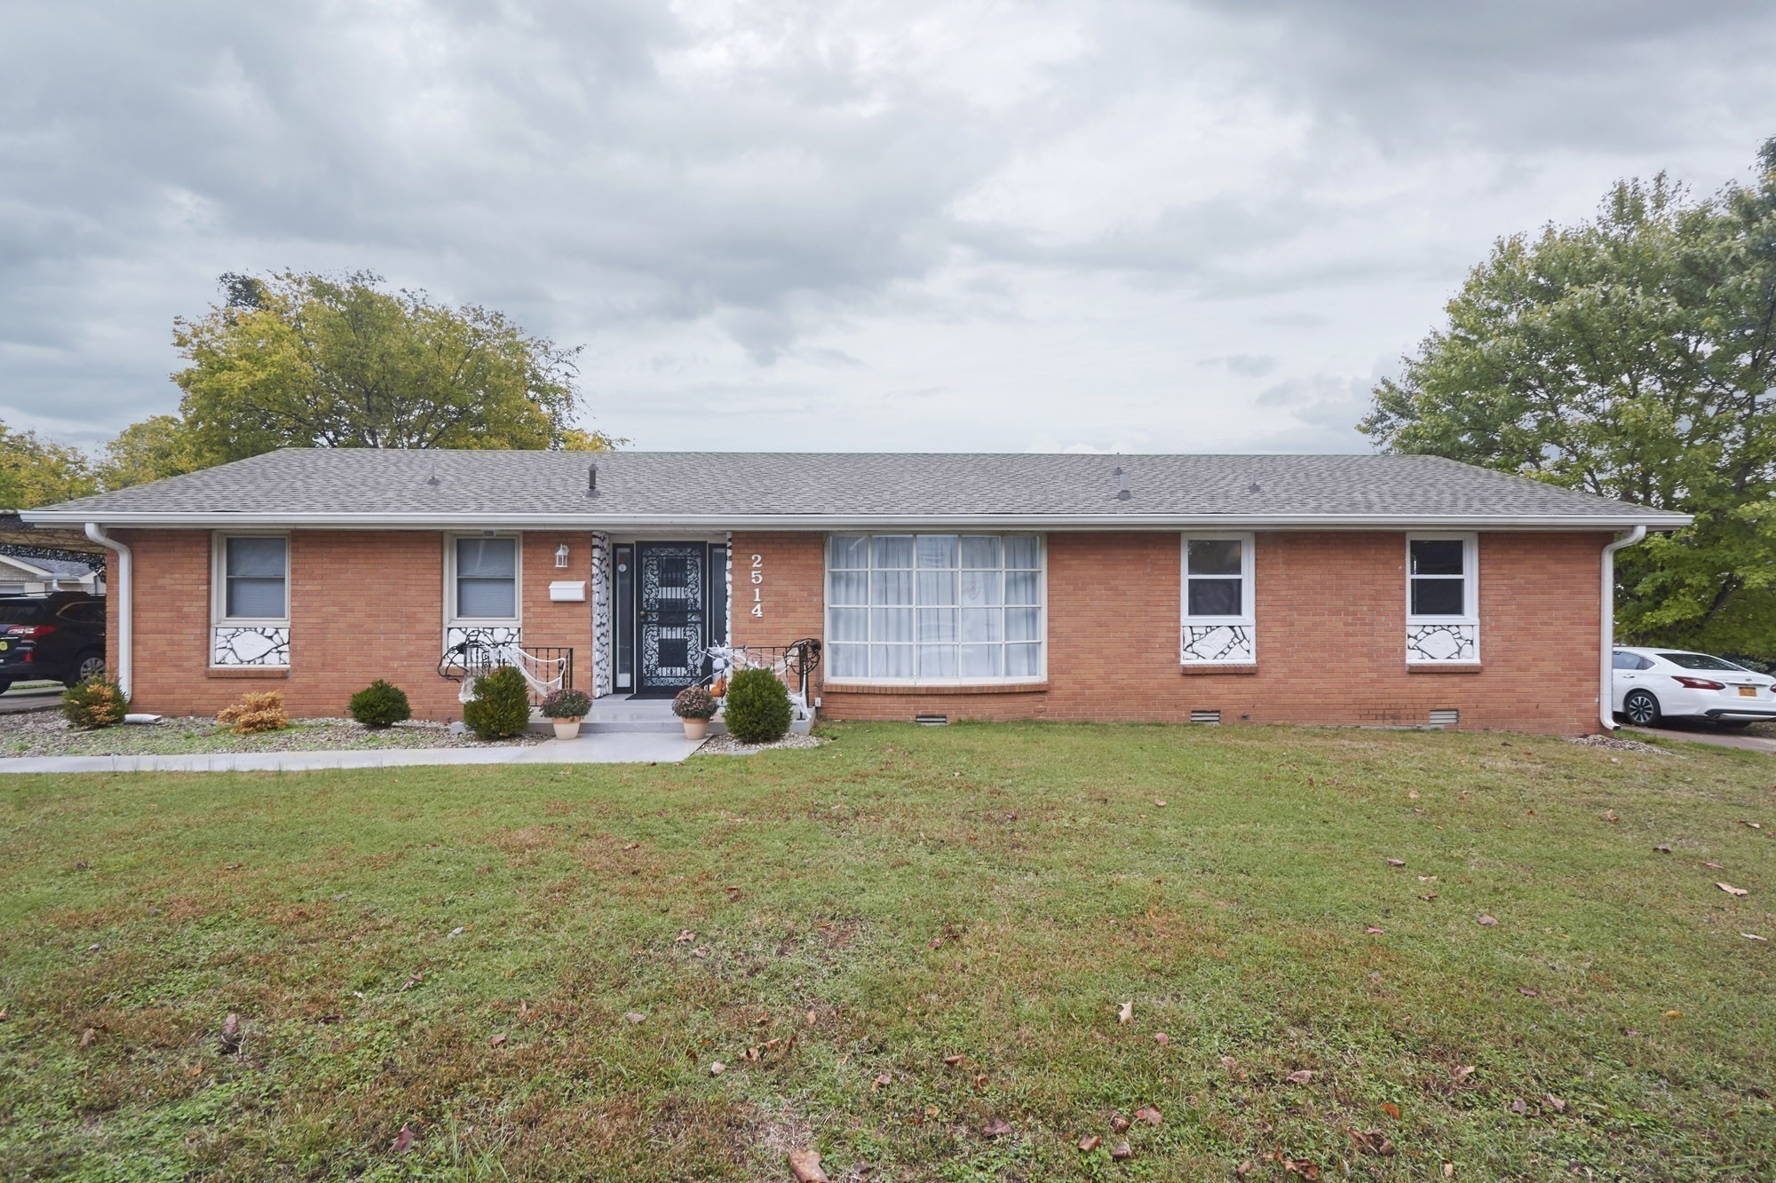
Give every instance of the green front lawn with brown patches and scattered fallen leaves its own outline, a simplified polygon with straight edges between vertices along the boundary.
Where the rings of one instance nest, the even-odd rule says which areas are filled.
[[[0,1176],[1776,1174],[1772,757],[828,734],[0,778]]]

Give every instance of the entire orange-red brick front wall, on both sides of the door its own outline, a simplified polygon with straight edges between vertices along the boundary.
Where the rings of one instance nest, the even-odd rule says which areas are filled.
[[[341,714],[352,691],[385,677],[419,718],[458,718],[437,677],[442,647],[439,533],[291,535],[291,671],[208,670],[210,533],[119,531],[137,558],[135,691],[142,711],[208,714],[247,689],[284,691],[291,712]],[[554,567],[568,544],[570,567]],[[1479,542],[1478,671],[1405,663],[1405,538],[1399,533],[1259,533],[1257,671],[1181,673],[1177,533],[1058,533],[1048,538],[1048,682],[1018,693],[863,693],[815,686],[845,719],[1186,719],[1234,723],[1424,723],[1462,711],[1463,726],[1598,730],[1598,552],[1604,533],[1494,533]],[[824,538],[733,535],[733,639],[785,645],[824,632]],[[762,581],[751,583],[751,556]],[[570,645],[575,684],[591,684],[591,604],[549,602],[552,579],[591,577],[586,533],[526,535],[524,636]],[[112,584],[115,588],[115,583]],[[764,613],[751,615],[753,588]],[[115,597],[112,597],[115,613]],[[112,623],[115,638],[115,622]],[[115,639],[112,641],[115,661]]]

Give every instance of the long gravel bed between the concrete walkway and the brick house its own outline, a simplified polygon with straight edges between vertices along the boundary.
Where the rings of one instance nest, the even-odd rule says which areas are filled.
[[[190,755],[238,751],[343,751],[361,748],[510,748],[542,742],[526,734],[499,742],[453,735],[448,723],[396,723],[371,730],[352,719],[291,719],[281,732],[236,735],[213,718],[167,718],[124,723],[96,732],[76,730],[60,712],[0,714],[0,757],[53,755]]]

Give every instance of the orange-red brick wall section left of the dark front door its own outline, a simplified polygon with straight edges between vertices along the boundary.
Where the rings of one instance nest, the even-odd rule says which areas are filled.
[[[295,716],[343,716],[353,691],[387,679],[419,719],[456,719],[444,648],[444,538],[435,531],[289,535],[289,671],[210,670],[210,531],[117,531],[135,552],[135,707],[215,714],[247,691],[282,691]],[[568,544],[567,570],[554,565]],[[591,602],[551,604],[551,579],[591,577],[586,533],[524,535],[524,639],[570,645],[574,680],[591,677]],[[108,584],[114,592],[115,581]],[[588,586],[590,597],[590,586]],[[110,595],[110,661],[117,597]]]

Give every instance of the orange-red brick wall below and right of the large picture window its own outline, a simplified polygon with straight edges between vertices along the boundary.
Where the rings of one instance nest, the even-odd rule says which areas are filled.
[[[1481,666],[1408,670],[1405,536],[1259,533],[1256,673],[1183,673],[1179,536],[1048,538],[1048,684],[1003,693],[858,693],[824,687],[840,719],[1426,723],[1595,732],[1598,563],[1607,535],[1483,535]],[[767,556],[769,563],[769,556]]]

